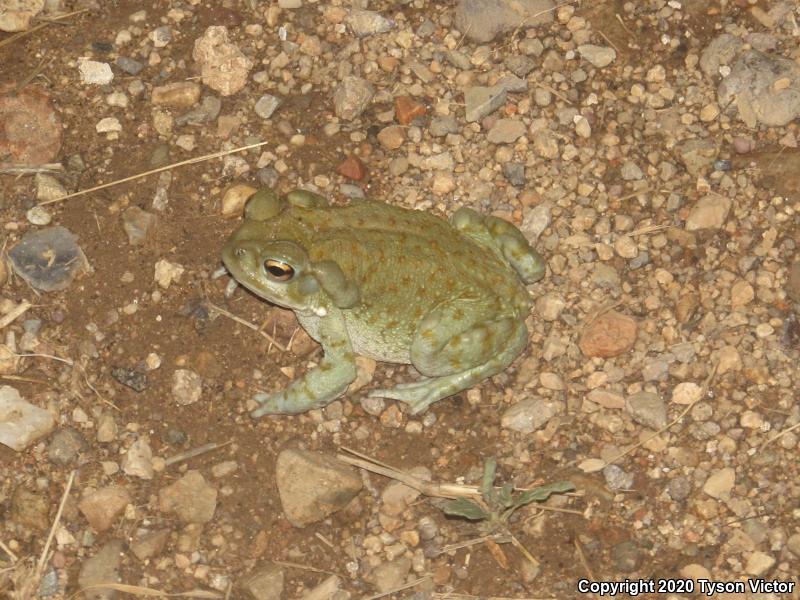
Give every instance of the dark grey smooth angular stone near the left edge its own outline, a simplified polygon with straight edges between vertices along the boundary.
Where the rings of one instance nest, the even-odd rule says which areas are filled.
[[[14,271],[43,292],[66,289],[75,275],[87,268],[77,238],[57,225],[32,231],[8,253]]]

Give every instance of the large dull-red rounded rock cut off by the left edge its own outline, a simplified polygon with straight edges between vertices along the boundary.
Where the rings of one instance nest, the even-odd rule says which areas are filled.
[[[0,167],[52,162],[61,148],[61,121],[41,88],[0,86]]]

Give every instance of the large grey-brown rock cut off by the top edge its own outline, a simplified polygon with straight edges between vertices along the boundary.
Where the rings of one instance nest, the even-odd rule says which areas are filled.
[[[490,42],[515,29],[552,23],[554,8],[553,0],[461,0],[455,24],[468,39]]]

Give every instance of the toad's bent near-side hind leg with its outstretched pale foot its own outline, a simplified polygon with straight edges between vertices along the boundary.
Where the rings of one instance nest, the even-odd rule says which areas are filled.
[[[450,317],[459,310],[458,304],[437,309],[417,330],[411,363],[428,379],[375,390],[370,396],[406,402],[411,413],[417,414],[437,400],[499,373],[525,348],[528,330],[521,320],[512,317],[473,320],[453,333],[459,321]]]

